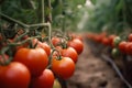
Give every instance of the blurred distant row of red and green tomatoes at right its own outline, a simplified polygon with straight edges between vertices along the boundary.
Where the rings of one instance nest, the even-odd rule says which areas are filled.
[[[122,54],[132,55],[132,33],[125,37],[116,34],[107,35],[106,32],[100,34],[88,33],[87,37],[106,46],[110,46],[113,48],[114,53],[120,52]]]

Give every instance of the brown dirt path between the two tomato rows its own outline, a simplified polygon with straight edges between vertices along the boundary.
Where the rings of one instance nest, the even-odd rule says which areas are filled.
[[[89,44],[84,41],[85,50],[79,56],[74,76],[67,88],[124,88],[113,68],[95,56]]]

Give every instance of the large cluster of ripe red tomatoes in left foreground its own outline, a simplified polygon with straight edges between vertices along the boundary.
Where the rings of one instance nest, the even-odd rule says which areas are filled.
[[[53,36],[51,43],[34,37],[14,48],[11,59],[7,53],[0,55],[0,88],[53,88],[55,78],[66,80],[74,75],[84,43],[72,34],[70,40]]]

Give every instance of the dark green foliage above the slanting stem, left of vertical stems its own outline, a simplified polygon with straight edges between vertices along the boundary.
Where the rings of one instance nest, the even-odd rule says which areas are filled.
[[[24,23],[37,23],[36,6],[30,0],[6,0],[0,6],[1,12]]]

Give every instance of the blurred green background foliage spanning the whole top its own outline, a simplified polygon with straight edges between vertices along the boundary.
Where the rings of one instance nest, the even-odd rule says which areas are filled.
[[[44,0],[45,4],[48,0]],[[41,23],[42,0],[0,0],[0,11],[28,24]],[[51,0],[54,29],[121,33],[132,28],[132,0]]]

